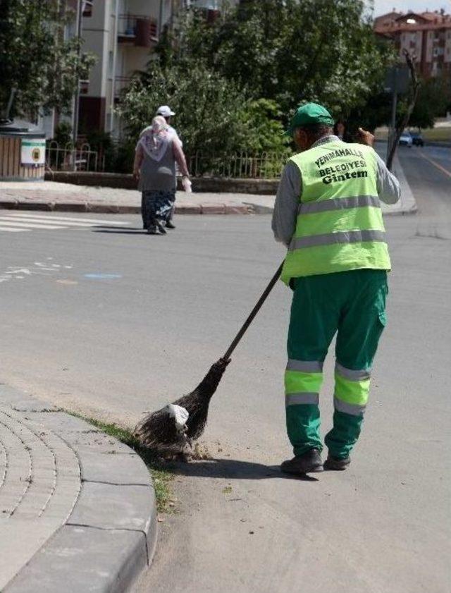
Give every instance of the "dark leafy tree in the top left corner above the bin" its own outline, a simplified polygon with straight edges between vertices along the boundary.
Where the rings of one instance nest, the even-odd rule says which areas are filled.
[[[73,11],[63,0],[2,0],[0,3],[0,106],[16,89],[14,114],[39,108],[70,112],[80,78],[94,58],[82,53],[82,40],[64,39]]]

